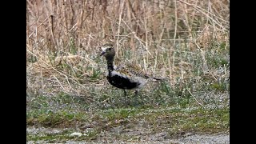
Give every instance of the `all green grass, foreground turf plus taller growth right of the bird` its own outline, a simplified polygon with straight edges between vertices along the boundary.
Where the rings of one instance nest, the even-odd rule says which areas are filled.
[[[126,52],[125,58],[130,57],[130,53]],[[113,130],[120,129],[120,126],[121,131],[139,129],[146,131],[146,134],[157,134],[164,130],[170,138],[188,132],[229,131],[230,80],[226,74],[230,68],[228,48],[219,46],[218,50],[205,51],[207,70],[202,65],[202,55],[199,52],[177,50],[175,53],[179,58],[174,65],[178,66],[181,59],[189,62],[192,67],[186,74],[190,75],[185,75],[184,78],[176,75],[173,85],[169,81],[150,82],[139,91],[138,97],[134,97],[133,90],[127,90],[128,96],[124,98],[122,90],[106,86],[106,78],[102,76],[105,66],[103,59],[97,61],[98,67],[86,67],[85,70],[91,71],[86,80],[79,79],[82,82],[70,83],[74,91],[85,90],[83,94],[70,94],[65,91],[57,94],[27,94],[27,126],[70,129],[58,134],[27,134],[27,141],[91,142],[106,135],[127,142],[136,142],[139,139],[136,134],[114,133]],[[163,61],[168,61],[167,56],[168,54],[163,56]],[[65,69],[73,69],[67,63],[65,65]],[[80,72],[82,69],[81,67]],[[74,75],[80,78],[81,74]],[[92,126],[82,130],[81,125]],[[73,132],[84,135],[70,137]]]

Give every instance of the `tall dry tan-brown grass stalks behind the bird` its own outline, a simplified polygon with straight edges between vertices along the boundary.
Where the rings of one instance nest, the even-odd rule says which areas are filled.
[[[94,60],[105,42],[115,43],[118,58],[127,59],[129,49],[130,61],[171,85],[195,76],[191,62],[175,52],[201,53],[207,71],[204,52],[216,42],[229,45],[226,0],[26,2],[27,90],[33,94],[63,91],[90,101],[89,87],[100,93],[106,85],[104,74],[92,78],[105,70]]]

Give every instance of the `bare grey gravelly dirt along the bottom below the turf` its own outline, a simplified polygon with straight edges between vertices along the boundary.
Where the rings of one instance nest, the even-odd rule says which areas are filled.
[[[61,134],[67,129],[50,129],[50,128],[34,128],[28,127],[26,129],[27,134]],[[117,127],[113,130],[102,132],[97,139],[91,142],[68,140],[64,143],[80,144],[80,143],[173,143],[173,144],[183,144],[183,143],[210,143],[210,144],[227,144],[230,143],[230,134],[193,134],[186,133],[177,136],[176,138],[170,138],[166,131],[160,133],[150,134],[146,130],[122,130],[122,128]],[[117,137],[118,136],[118,137]],[[121,136],[121,137],[120,137]],[[122,138],[124,138],[122,140]],[[49,143],[47,141],[29,141],[28,144],[32,143]],[[50,142],[54,143],[54,142]],[[56,142],[63,143],[63,142]]]

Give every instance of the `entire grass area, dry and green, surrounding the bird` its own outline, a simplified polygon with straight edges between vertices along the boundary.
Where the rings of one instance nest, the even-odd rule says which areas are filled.
[[[26,2],[27,141],[229,133],[229,2]],[[124,98],[97,58],[110,41],[119,59],[166,80]]]

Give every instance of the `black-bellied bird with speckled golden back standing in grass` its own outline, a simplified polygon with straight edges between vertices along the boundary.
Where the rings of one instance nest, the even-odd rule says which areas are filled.
[[[125,97],[127,96],[126,90],[135,90],[135,96],[138,96],[138,90],[142,89],[149,80],[161,81],[164,79],[150,76],[134,63],[115,61],[115,50],[112,43],[102,45],[101,49],[102,53],[99,56],[106,58],[107,81],[112,86],[122,89]]]

